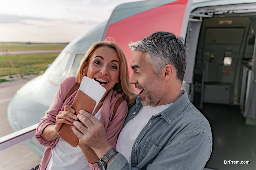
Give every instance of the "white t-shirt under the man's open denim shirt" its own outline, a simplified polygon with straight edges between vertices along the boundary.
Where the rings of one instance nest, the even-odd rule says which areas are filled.
[[[142,106],[138,114],[124,126],[118,136],[116,150],[122,153],[129,163],[131,163],[133,143],[139,136],[140,131],[144,128],[153,115],[160,113],[164,109],[171,106],[171,104],[162,106]]]

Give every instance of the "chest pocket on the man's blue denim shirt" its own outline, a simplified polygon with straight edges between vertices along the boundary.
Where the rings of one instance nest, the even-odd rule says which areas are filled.
[[[143,159],[150,160],[154,158],[160,152],[161,149],[162,147],[158,147],[153,142],[147,140],[140,151],[138,161],[141,162]]]

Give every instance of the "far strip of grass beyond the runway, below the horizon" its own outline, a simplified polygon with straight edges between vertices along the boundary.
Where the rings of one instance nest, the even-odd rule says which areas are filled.
[[[16,43],[0,42],[0,51],[15,50],[60,50],[67,46],[68,43]]]

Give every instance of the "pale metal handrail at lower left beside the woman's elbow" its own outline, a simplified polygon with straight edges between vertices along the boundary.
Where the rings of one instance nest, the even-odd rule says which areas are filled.
[[[29,126],[27,128],[21,129],[19,131],[13,132],[9,135],[0,138],[0,151],[18,144],[26,139],[32,138],[36,134],[37,124]]]

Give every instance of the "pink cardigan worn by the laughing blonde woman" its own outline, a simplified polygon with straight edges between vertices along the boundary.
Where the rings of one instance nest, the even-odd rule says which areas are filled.
[[[66,96],[68,95],[68,92],[70,89],[75,85],[76,83],[76,77],[70,76],[65,78],[61,83],[60,87],[56,93],[56,96],[53,99],[52,105],[50,106],[49,110],[45,112],[45,116],[41,119],[41,121],[38,124],[38,127],[36,128],[36,139],[41,144],[46,146],[47,148],[44,151],[43,158],[41,160],[39,170],[44,170],[46,166],[48,165],[49,160],[52,157],[52,148],[56,145],[59,138],[56,138],[52,141],[45,140],[41,134],[44,131],[44,128],[48,126],[49,124],[55,124],[56,121],[56,115],[59,113],[59,111],[64,110],[64,106],[67,104],[71,106],[74,97],[76,96],[77,90],[68,97],[68,99],[65,101]],[[107,138],[109,142],[116,147],[116,141],[117,141],[117,135],[119,131],[121,130],[125,117],[127,116],[127,102],[123,101],[118,109],[116,110],[116,114],[113,118],[113,120],[110,122],[110,119],[113,114],[114,105],[117,101],[117,99],[121,95],[118,94],[113,89],[108,91],[108,94],[104,100],[104,103],[102,105],[101,113],[100,113],[100,121],[103,123],[106,132],[107,132]],[[82,151],[81,151],[82,152]],[[97,163],[90,164],[88,162],[90,168],[92,170],[99,170]]]

